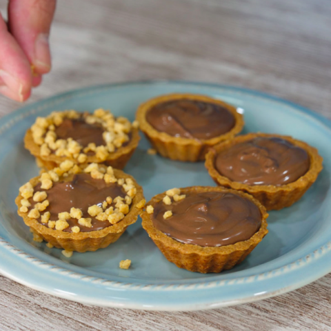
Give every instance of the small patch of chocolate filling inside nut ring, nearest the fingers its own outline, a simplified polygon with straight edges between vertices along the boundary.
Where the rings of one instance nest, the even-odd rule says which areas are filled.
[[[88,124],[84,119],[63,119],[63,122],[55,129],[57,139],[72,138],[83,148],[89,143],[95,143],[96,146],[105,145],[103,132],[101,125]]]

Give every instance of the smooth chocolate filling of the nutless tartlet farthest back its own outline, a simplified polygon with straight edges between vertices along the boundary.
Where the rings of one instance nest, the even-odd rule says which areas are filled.
[[[174,137],[211,139],[234,127],[234,116],[217,103],[189,99],[159,103],[146,114],[150,125]]]

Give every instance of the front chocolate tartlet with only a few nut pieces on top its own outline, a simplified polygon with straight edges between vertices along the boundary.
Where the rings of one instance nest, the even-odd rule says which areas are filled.
[[[143,228],[168,261],[189,271],[231,269],[268,233],[263,205],[227,188],[175,188],[146,205]]]

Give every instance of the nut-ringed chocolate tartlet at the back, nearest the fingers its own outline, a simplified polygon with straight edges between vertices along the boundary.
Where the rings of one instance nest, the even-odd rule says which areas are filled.
[[[123,169],[139,139],[136,123],[116,118],[109,110],[97,109],[94,114],[66,110],[37,117],[24,143],[37,164],[48,170],[65,160]]]

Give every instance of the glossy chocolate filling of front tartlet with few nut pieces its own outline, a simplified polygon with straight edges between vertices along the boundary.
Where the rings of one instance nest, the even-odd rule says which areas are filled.
[[[172,217],[163,214],[172,211]],[[181,243],[232,245],[250,239],[261,227],[261,212],[252,201],[229,192],[199,192],[165,205],[154,205],[154,227]]]

